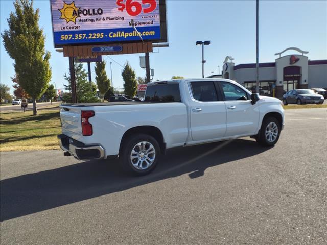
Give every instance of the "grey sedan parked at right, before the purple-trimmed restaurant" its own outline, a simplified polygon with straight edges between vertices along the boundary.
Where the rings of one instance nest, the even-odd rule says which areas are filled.
[[[295,89],[290,90],[283,95],[283,104],[322,104],[324,102],[323,96],[315,93],[311,89]]]

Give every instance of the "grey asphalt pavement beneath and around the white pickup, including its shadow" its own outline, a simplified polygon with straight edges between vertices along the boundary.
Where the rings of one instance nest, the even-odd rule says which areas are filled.
[[[61,151],[1,153],[1,244],[326,244],[327,109],[287,110],[273,148],[178,148],[154,173]]]

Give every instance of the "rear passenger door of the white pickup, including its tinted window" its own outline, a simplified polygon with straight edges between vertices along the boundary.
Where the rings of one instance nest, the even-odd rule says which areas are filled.
[[[190,81],[191,136],[193,141],[211,141],[224,137],[226,108],[219,101],[214,81]]]

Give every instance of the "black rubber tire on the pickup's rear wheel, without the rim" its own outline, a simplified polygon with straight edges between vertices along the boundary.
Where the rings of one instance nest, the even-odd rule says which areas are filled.
[[[141,142],[148,142],[149,148],[151,147],[150,145],[152,145],[154,148],[154,152],[155,152],[154,155],[151,154],[151,158],[154,157],[153,162],[151,163],[151,165],[149,167],[147,167],[145,169],[137,169],[133,165],[132,160],[131,160],[132,150],[135,149],[135,146]],[[147,144],[144,144],[144,145],[145,145],[145,150],[146,150]],[[141,149],[140,149],[140,151],[141,151]],[[143,176],[143,175],[147,175],[147,174],[151,173],[154,170],[154,168],[157,166],[158,158],[160,155],[160,146],[158,144],[158,141],[151,135],[133,134],[123,140],[123,143],[121,146],[121,152],[119,155],[120,155],[120,160],[121,160],[121,166],[125,172],[132,174],[134,176]],[[134,154],[134,156],[137,156],[137,155]],[[148,156],[150,156],[150,154]],[[138,157],[139,157],[139,155],[138,155]],[[133,160],[133,161],[135,161],[134,164],[137,164],[138,160],[139,160],[138,158],[135,158],[135,160]],[[141,165],[141,168],[146,167],[147,164],[149,163],[148,158],[141,160],[141,161],[142,161],[142,163],[139,162],[139,165]]]

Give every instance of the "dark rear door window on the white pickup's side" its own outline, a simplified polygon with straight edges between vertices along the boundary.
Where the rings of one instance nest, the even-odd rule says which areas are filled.
[[[214,82],[191,82],[191,87],[197,101],[218,101]]]

